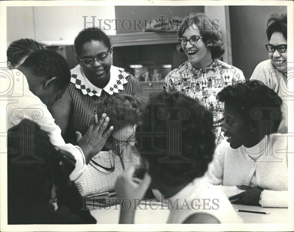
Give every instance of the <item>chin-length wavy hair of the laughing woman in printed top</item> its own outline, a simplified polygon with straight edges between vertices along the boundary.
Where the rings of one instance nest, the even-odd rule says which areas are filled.
[[[183,23],[181,24],[180,29],[178,30],[178,38],[184,34],[189,26],[195,24],[200,28],[202,41],[204,44],[206,44],[206,47],[210,49],[212,59],[220,59],[225,53],[225,46],[221,41],[222,36],[218,30],[218,27],[213,25],[211,22],[212,19],[205,14],[191,13],[190,16],[186,17],[186,19],[184,19]],[[206,29],[207,26],[208,29]],[[180,53],[184,53],[181,44],[177,45],[177,49]]]

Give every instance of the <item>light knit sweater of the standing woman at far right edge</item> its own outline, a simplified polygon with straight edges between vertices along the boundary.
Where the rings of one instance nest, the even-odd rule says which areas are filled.
[[[289,92],[287,86],[287,73],[279,71],[269,60],[260,62],[253,71],[250,80],[258,80],[268,86],[268,88],[275,91],[278,96],[283,100],[281,106],[282,121],[278,128],[278,133],[286,133],[288,131],[287,123],[287,105],[285,100],[293,96],[293,92]]]

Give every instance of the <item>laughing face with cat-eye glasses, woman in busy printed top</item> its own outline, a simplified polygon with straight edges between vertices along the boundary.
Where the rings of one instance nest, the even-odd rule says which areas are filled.
[[[193,37],[200,37],[200,29],[196,24],[190,26],[181,37],[191,39]],[[188,56],[189,62],[196,68],[205,68],[212,63],[211,51],[203,43],[202,38],[197,41],[196,44],[192,45],[189,41],[186,45],[182,44],[182,49]]]

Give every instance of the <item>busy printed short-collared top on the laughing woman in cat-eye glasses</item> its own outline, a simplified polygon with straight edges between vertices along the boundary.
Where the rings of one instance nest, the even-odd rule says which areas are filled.
[[[243,72],[218,59],[201,69],[186,61],[166,76],[163,91],[179,91],[211,110],[215,123],[216,144],[218,144],[224,138],[220,132],[223,103],[216,101],[216,95],[224,87],[238,81],[245,81]]]

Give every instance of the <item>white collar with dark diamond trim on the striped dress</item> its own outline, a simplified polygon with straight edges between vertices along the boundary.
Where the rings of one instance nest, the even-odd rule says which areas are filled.
[[[81,66],[78,65],[71,70],[71,83],[75,84],[77,89],[81,89],[84,95],[88,94],[89,96],[96,95],[100,97],[102,90],[110,95],[118,93],[118,90],[123,90],[123,85],[128,83],[127,76],[129,74],[123,69],[111,65],[110,80],[103,89],[100,89],[88,80]]]

